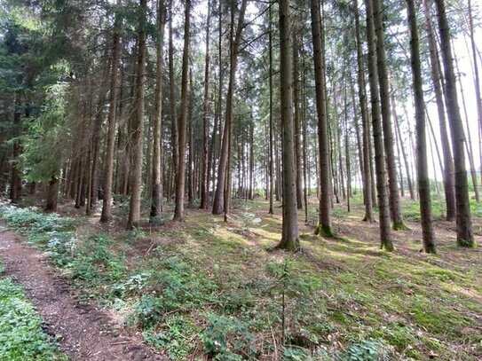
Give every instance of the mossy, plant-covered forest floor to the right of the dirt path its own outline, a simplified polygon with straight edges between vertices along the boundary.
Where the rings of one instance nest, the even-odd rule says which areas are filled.
[[[178,360],[482,359],[482,250],[456,247],[440,200],[434,201],[438,255],[420,252],[415,201],[403,202],[409,230],[394,232],[392,254],[378,247],[378,224],[361,221],[360,197],[351,212],[346,204],[333,209],[333,239],[312,234],[312,202],[308,224],[300,212],[296,254],[272,250],[281,208],[268,215],[265,200],[234,200],[227,224],[187,209],[184,223],[164,220],[130,232],[121,223],[122,201],[106,226],[70,204],[58,215],[3,206],[0,216],[33,247],[3,232],[0,253],[7,275],[27,288],[49,333],[61,334],[60,348],[74,359],[67,343],[74,330],[83,336],[69,342],[114,345],[120,353],[110,359],[119,360],[137,359],[122,354],[130,347],[157,357],[138,346],[140,334]],[[480,244],[482,205],[474,203],[472,213]],[[45,285],[59,291],[50,296]],[[58,314],[82,321],[62,324],[42,302],[58,303],[67,310]],[[105,340],[89,339],[101,332]]]

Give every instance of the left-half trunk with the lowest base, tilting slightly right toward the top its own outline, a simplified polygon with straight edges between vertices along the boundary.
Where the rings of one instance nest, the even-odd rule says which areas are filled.
[[[144,86],[146,82],[146,13],[147,0],[139,0],[138,74],[136,84],[136,112],[130,129],[132,173],[130,178],[130,209],[127,227],[140,224],[140,193],[142,184],[142,136],[144,130]]]

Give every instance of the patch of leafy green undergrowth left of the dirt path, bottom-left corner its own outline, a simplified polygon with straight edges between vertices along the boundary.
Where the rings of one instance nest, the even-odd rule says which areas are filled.
[[[2,275],[0,266],[0,359],[67,360],[56,341],[42,331],[40,318],[23,288]]]

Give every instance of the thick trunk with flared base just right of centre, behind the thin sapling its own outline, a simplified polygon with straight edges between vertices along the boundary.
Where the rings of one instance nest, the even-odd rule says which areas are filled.
[[[296,251],[300,247],[296,208],[295,134],[293,122],[293,54],[289,2],[280,0],[281,129],[283,134],[283,223],[277,248]]]

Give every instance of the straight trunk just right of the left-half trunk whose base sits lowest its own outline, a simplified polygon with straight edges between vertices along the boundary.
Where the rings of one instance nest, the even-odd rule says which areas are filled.
[[[157,0],[157,42],[154,98],[154,144],[151,213],[149,222],[158,222],[162,213],[162,69],[165,23],[164,0]]]

